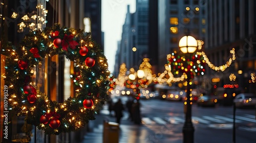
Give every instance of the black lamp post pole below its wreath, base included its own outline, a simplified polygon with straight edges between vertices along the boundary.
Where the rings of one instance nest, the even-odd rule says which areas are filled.
[[[191,100],[190,100],[190,71],[188,72],[188,75],[187,75],[187,93],[186,93],[186,101],[187,104],[184,104],[184,108],[185,108],[185,123],[184,123],[184,126],[183,126],[183,129],[182,129],[182,132],[183,132],[183,142],[184,143],[193,143],[194,142],[194,126],[192,124],[192,121],[191,121]]]

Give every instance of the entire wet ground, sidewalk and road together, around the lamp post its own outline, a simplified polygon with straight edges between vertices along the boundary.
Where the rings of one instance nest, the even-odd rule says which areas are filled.
[[[123,100],[124,102],[125,100]],[[142,126],[133,124],[124,113],[120,125],[119,142],[183,142],[183,102],[157,99],[140,100]],[[192,120],[195,128],[194,142],[233,142],[233,108],[231,106],[192,106]],[[250,143],[256,140],[254,109],[237,109],[236,142]],[[101,114],[93,121],[93,132],[87,133],[82,142],[101,142],[103,119],[115,122],[104,106]]]

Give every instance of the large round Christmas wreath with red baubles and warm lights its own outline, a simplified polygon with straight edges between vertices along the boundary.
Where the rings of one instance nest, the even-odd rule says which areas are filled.
[[[91,34],[83,30],[60,27],[27,34],[18,46],[9,42],[1,51],[6,55],[5,85],[11,109],[25,121],[46,134],[75,131],[95,119],[95,114],[108,100],[108,63]],[[79,66],[79,92],[63,103],[52,101],[40,92],[34,82],[34,67],[45,57],[64,55]]]

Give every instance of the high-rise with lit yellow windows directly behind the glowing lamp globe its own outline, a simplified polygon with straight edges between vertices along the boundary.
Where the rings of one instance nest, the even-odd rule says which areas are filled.
[[[179,50],[178,42],[185,31],[204,40],[205,6],[199,0],[158,1],[158,68],[164,71],[166,56]]]

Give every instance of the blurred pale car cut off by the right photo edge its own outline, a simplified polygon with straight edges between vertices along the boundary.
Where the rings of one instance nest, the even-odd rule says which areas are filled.
[[[234,100],[236,107],[255,107],[256,106],[256,95],[253,93],[240,93]]]

